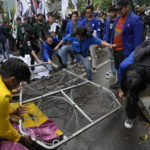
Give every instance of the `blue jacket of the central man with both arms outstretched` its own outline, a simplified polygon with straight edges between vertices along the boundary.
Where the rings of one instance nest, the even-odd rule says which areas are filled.
[[[100,45],[102,40],[91,37],[91,38],[84,38],[84,40],[79,41],[76,36],[66,36],[63,38],[64,42],[70,41],[72,44],[72,47],[77,54],[81,54],[82,56],[86,57],[88,55],[89,47],[92,44],[98,44]]]

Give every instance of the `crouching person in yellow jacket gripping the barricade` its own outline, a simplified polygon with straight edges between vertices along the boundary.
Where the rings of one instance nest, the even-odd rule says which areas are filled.
[[[22,81],[29,82],[31,73],[28,66],[20,59],[10,58],[0,68],[0,137],[4,140],[30,144],[30,136],[22,136],[10,123],[9,115],[20,115],[25,112],[24,107],[18,107],[10,112],[9,102],[12,99],[12,91],[18,88]],[[20,88],[21,89],[21,88]]]

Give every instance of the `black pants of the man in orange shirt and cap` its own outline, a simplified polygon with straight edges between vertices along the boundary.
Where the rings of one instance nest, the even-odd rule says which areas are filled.
[[[115,68],[119,70],[119,66],[121,62],[124,60],[123,50],[116,51],[114,50],[114,60],[115,60]]]

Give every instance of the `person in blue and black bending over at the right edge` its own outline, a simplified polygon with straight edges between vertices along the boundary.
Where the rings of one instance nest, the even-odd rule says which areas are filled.
[[[150,39],[133,51],[119,68],[119,96],[127,100],[127,120],[124,126],[132,128],[137,116],[139,93],[150,84]]]

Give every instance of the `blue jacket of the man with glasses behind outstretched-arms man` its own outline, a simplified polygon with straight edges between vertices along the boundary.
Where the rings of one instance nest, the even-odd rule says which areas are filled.
[[[82,23],[83,23],[83,26],[86,26],[87,25],[87,18],[83,19]],[[101,37],[101,21],[100,20],[93,17],[93,19],[91,20],[91,23],[90,23],[90,27],[93,30],[96,30],[97,37]]]

